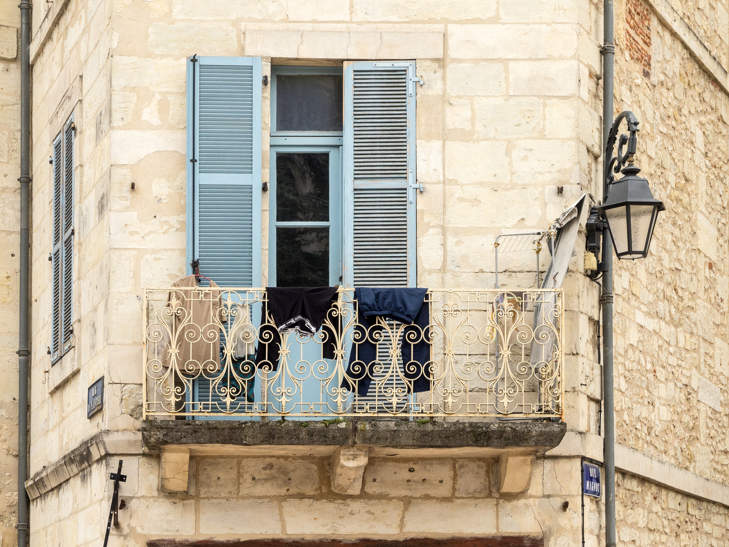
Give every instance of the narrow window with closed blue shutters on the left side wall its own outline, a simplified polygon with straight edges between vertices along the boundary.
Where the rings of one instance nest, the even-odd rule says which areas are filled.
[[[51,364],[73,344],[74,136],[71,116],[53,141]]]

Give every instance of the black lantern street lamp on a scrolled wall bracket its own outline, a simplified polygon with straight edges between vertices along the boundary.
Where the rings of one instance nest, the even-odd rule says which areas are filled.
[[[612,152],[620,123],[626,120],[631,135],[620,136],[617,147],[617,156]],[[607,197],[601,206],[590,210],[590,217],[586,225],[588,231],[588,251],[595,254],[596,260],[591,261],[596,268],[593,269],[593,278],[604,271],[604,265],[598,263],[599,232],[607,228],[612,236],[615,255],[620,259],[635,260],[648,255],[648,247],[653,236],[655,221],[658,212],[665,211],[663,201],[655,199],[648,186],[648,181],[638,176],[640,169],[634,166],[636,153],[636,133],[638,120],[633,112],[622,112],[610,129],[606,147],[607,168],[605,169],[604,185],[607,188]],[[628,149],[623,154],[623,147]],[[626,165],[627,163],[627,165]],[[623,176],[615,180],[615,173]],[[606,249],[607,250],[607,249]]]

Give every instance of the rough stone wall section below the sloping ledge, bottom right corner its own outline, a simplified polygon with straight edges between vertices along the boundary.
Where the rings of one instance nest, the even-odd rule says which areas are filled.
[[[616,473],[615,505],[621,546],[698,547],[729,542],[729,508],[641,478]]]

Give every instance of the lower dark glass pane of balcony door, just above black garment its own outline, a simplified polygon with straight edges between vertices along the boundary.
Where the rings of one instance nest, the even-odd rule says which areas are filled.
[[[276,285],[329,286],[329,228],[276,228]]]

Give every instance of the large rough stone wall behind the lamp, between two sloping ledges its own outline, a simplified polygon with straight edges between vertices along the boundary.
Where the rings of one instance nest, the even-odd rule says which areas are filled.
[[[617,442],[727,484],[729,102],[651,17],[650,77],[616,24],[615,112],[641,121],[636,164],[666,204],[649,257],[616,263]]]

